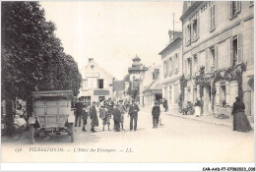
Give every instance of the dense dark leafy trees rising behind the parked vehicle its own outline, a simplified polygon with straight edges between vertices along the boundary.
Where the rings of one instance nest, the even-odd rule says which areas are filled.
[[[54,89],[72,89],[77,95],[81,74],[38,2],[2,2],[1,10],[1,91],[10,125],[16,97],[29,103],[33,90]]]

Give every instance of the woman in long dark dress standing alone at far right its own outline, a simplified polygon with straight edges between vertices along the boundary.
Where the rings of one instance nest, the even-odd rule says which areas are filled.
[[[232,113],[233,115],[233,131],[237,132],[249,132],[252,130],[249,120],[244,113],[245,105],[241,98],[237,96],[236,101],[233,103]]]

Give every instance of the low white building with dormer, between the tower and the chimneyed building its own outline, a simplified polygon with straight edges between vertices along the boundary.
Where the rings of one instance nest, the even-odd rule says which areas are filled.
[[[143,107],[152,107],[156,100],[162,98],[160,66],[153,65],[145,72],[140,90],[141,105]]]

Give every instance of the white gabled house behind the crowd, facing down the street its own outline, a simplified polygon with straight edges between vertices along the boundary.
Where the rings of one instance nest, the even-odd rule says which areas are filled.
[[[113,77],[101,68],[93,58],[81,70],[82,86],[79,97],[87,104],[91,105],[93,101],[100,101],[113,97]]]

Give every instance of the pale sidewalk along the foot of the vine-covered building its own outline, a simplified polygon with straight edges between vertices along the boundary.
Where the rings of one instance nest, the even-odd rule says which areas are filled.
[[[151,111],[149,108],[142,108],[145,111]],[[194,121],[201,121],[205,123],[210,123],[214,125],[219,125],[219,126],[227,126],[229,128],[233,127],[233,118],[232,116],[227,118],[227,119],[219,119],[214,117],[213,115],[202,115],[200,117],[196,117],[195,115],[182,115],[182,113],[179,113],[176,110],[168,110],[167,112],[163,112],[164,115],[170,115],[178,118],[185,118],[189,120],[194,120]],[[254,123],[251,123],[251,127],[254,130]]]

